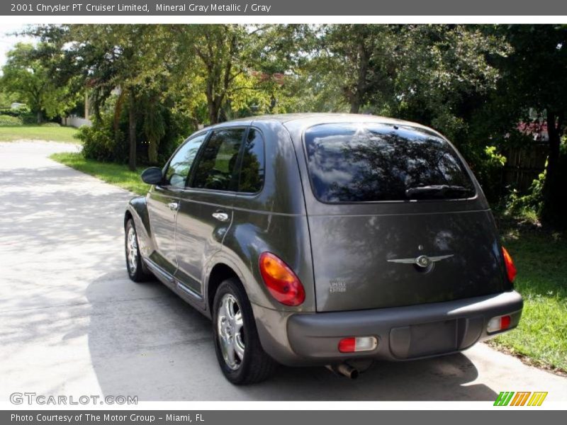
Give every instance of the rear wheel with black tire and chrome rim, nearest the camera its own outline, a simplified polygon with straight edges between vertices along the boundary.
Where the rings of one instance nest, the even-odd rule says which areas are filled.
[[[233,384],[261,382],[276,370],[277,363],[260,344],[252,306],[236,278],[223,281],[215,293],[213,336],[220,369]]]

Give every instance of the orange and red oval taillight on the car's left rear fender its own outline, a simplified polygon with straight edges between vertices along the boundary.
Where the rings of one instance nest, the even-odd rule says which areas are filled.
[[[260,256],[260,273],[271,296],[284,305],[300,305],[305,301],[301,280],[286,263],[270,252]]]

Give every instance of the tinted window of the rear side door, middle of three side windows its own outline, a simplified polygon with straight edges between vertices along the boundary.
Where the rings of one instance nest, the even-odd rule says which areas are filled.
[[[193,187],[215,191],[232,190],[244,128],[217,130],[210,136],[195,169]]]

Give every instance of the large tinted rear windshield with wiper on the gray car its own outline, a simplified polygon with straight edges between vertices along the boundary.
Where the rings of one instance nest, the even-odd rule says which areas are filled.
[[[454,149],[410,127],[323,124],[305,132],[313,192],[327,203],[462,199],[475,190]]]

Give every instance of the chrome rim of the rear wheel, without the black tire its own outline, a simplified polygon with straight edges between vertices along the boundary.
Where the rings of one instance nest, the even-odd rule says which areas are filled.
[[[245,356],[244,322],[240,306],[232,294],[225,294],[220,300],[217,330],[225,363],[230,369],[237,370]]]

